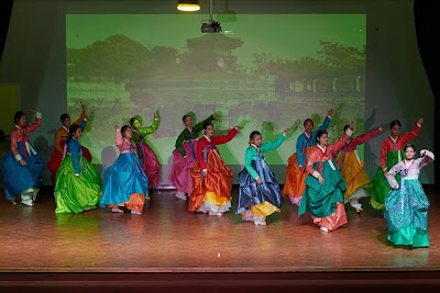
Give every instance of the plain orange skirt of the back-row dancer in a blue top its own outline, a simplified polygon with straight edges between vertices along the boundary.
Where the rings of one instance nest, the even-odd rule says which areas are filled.
[[[310,148],[307,148],[307,155]],[[299,205],[304,190],[306,189],[307,171],[299,169],[297,154],[292,155],[287,160],[286,180],[284,182],[283,195],[288,198],[293,204]]]

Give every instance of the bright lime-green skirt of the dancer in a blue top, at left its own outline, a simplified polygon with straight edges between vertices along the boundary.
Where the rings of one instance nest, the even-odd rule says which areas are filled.
[[[56,174],[55,202],[56,214],[81,213],[95,209],[102,191],[101,177],[98,170],[88,161],[80,158],[79,177],[75,176],[72,156],[66,155]]]

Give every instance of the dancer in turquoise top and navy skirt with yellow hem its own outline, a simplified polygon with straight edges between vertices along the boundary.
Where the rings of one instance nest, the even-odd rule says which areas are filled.
[[[239,173],[239,200],[235,214],[255,225],[267,225],[266,217],[279,212],[283,203],[278,182],[264,160],[263,153],[274,150],[286,139],[286,128],[275,142],[262,144],[262,135],[254,131],[250,135],[244,159],[244,169]]]

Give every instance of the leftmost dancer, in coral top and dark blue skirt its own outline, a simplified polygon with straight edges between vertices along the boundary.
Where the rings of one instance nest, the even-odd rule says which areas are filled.
[[[28,124],[26,115],[18,111],[14,115],[15,127],[11,132],[11,147],[2,157],[2,177],[7,199],[13,204],[34,206],[36,194],[43,183],[45,164],[36,153],[28,136],[41,126],[42,114],[35,113],[35,122]]]

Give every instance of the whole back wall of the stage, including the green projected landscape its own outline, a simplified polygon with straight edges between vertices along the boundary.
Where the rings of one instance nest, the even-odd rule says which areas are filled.
[[[43,112],[32,138],[46,158],[59,115],[76,119],[80,102],[90,114],[81,143],[102,171],[118,155],[113,125],[140,115],[148,126],[158,111],[160,127],[147,140],[163,184],[186,113],[196,122],[218,113],[216,134],[243,126],[219,147],[235,182],[252,131],[270,142],[290,127],[284,145],[266,154],[283,183],[304,120],[318,126],[330,108],[331,140],[350,121],[359,135],[394,119],[408,131],[424,116],[415,144],[432,149],[433,98],[417,49],[413,1],[253,1],[252,9],[249,1],[213,1],[219,34],[200,32],[208,1],[189,14],[177,12],[175,2],[14,2],[0,82],[20,83],[23,110]],[[371,174],[385,137],[361,148]],[[432,176],[428,169],[422,181],[432,183]]]

